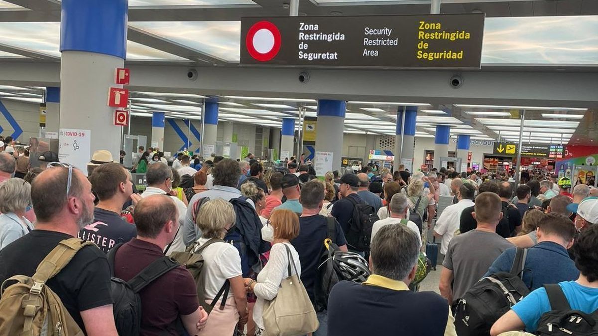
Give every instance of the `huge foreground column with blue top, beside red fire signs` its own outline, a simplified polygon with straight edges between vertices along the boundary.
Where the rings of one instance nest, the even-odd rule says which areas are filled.
[[[80,148],[65,160],[84,173],[91,152],[106,149],[116,158],[121,149],[115,108],[106,102],[109,87],[122,88],[114,73],[126,59],[127,10],[127,0],[62,1],[59,127],[90,137],[89,151]],[[61,137],[62,148],[74,140]]]

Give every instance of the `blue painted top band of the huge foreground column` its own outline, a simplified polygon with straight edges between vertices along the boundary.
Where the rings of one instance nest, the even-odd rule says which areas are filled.
[[[62,0],[60,52],[89,51],[126,59],[127,0]]]

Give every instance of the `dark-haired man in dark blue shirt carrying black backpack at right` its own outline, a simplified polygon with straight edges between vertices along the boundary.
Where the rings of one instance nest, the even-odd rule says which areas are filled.
[[[567,250],[575,236],[573,222],[560,213],[546,213],[538,222],[538,244],[527,249],[523,282],[530,291],[545,283],[575,280],[579,271],[569,258]],[[515,259],[515,248],[503,252],[490,266],[484,277],[498,272],[509,272]]]

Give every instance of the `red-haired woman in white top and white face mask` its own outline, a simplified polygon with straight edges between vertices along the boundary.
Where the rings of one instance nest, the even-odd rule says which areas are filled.
[[[271,232],[269,232],[271,230]],[[270,249],[270,259],[266,266],[258,274],[257,281],[253,279],[243,279],[248,291],[254,292],[258,298],[254,307],[255,336],[266,335],[264,332],[264,320],[262,314],[264,311],[264,301],[273,300],[278,294],[280,282],[288,277],[289,258],[286,254],[286,247],[291,251],[291,256],[295,262],[297,276],[301,277],[301,261],[295,248],[289,243],[299,234],[299,218],[288,209],[275,210],[270,215],[270,223],[262,229],[262,237],[272,243]],[[295,274],[295,267],[291,267],[291,275]]]

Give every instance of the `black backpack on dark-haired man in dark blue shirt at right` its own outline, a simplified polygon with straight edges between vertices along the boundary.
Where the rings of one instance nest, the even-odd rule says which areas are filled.
[[[457,335],[489,335],[493,323],[529,294],[520,277],[526,256],[527,249],[517,248],[510,272],[482,278],[453,304]]]

